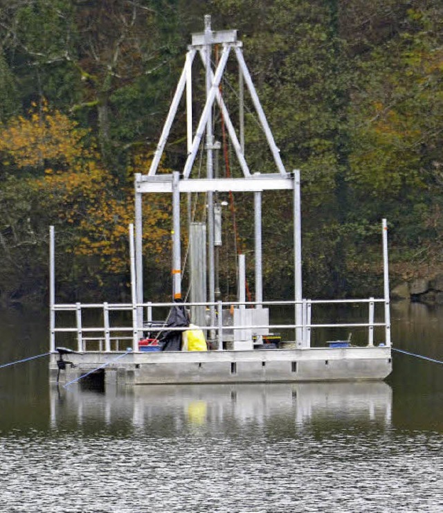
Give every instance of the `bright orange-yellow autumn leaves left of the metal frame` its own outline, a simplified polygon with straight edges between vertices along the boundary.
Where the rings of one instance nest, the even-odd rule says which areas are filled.
[[[68,251],[79,257],[96,255],[105,273],[127,271],[128,225],[133,222],[132,174],[146,168],[136,156],[120,183],[105,169],[91,133],[46,102],[33,105],[27,116],[0,125],[0,181],[20,177],[38,198],[52,224],[69,229]],[[161,262],[170,244],[170,207],[165,199],[144,201],[144,251]],[[96,259],[95,259],[96,260]]]

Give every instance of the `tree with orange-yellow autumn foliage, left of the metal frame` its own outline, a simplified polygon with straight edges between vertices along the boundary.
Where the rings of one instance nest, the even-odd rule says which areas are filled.
[[[17,267],[12,275],[3,276],[0,291],[19,294],[17,282],[32,260],[30,251],[37,247],[39,258],[46,253],[50,224],[62,233],[58,247],[67,255],[62,275],[73,290],[79,289],[79,280],[100,290],[105,276],[127,287],[132,186],[122,188],[102,165],[95,147],[88,145],[89,132],[45,103],[42,111],[36,105],[28,118],[12,118],[1,127],[0,140],[6,170],[0,181],[1,206],[8,212],[2,217],[0,242],[10,264]],[[144,165],[139,156],[130,172],[139,172]],[[12,204],[15,195],[19,198]],[[154,255],[154,264],[161,262],[161,253],[170,244],[169,210],[161,200],[145,204],[151,228],[145,234],[145,251]],[[43,262],[38,264],[41,269]]]

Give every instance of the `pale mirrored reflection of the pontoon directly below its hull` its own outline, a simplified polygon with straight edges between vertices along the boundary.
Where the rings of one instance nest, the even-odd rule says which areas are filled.
[[[112,424],[133,429],[160,426],[163,435],[192,425],[208,431],[284,420],[286,429],[316,422],[325,429],[340,421],[390,426],[392,390],[383,381],[359,383],[157,385],[108,388],[106,393],[51,388],[51,426]],[[226,426],[224,428],[224,426]],[[166,430],[166,431],[165,431]],[[121,433],[121,431],[119,431]]]

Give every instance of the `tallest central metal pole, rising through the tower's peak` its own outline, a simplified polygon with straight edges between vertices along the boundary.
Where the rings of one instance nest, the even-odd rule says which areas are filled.
[[[211,44],[212,29],[210,26],[210,15],[205,15],[205,39],[206,39],[206,101],[210,96],[211,87],[213,86],[212,80],[212,67],[210,63],[211,57]],[[213,179],[213,115],[212,110],[208,112],[208,119],[206,122],[206,176],[208,179]],[[214,193],[208,191],[208,289],[209,289],[209,302],[215,302],[215,251],[214,251]],[[214,325],[215,310],[214,305],[210,305],[210,325]],[[210,339],[214,338],[214,332],[211,330]]]

